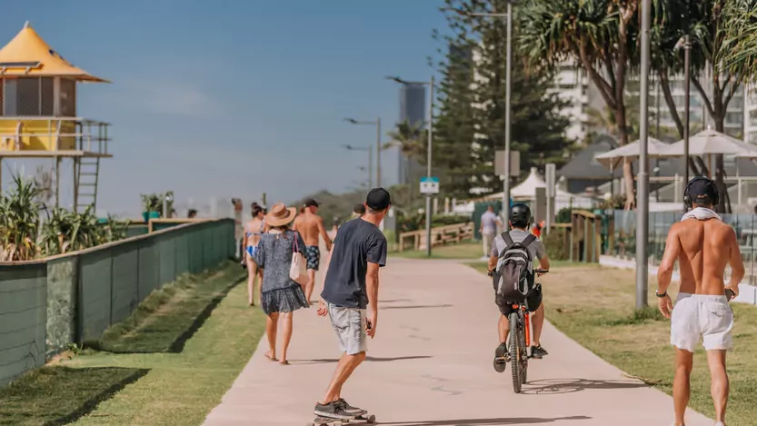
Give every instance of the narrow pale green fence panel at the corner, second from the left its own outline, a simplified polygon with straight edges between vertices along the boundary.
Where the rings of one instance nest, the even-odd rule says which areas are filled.
[[[47,261],[47,352],[75,342],[77,263],[76,256]]]

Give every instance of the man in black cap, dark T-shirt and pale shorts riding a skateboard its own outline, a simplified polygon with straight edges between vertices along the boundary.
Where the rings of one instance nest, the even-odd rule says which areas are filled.
[[[364,215],[344,223],[336,234],[318,315],[331,318],[343,354],[324,398],[315,404],[317,416],[350,420],[367,412],[344,401],[342,386],[365,360],[368,337],[376,333],[379,268],[386,263],[386,238],[378,225],[390,204],[389,193],[374,188],[365,199]]]

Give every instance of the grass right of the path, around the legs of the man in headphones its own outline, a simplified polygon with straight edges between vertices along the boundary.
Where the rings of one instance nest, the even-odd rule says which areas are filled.
[[[670,322],[657,312],[653,277],[649,294],[652,306],[641,312],[634,310],[633,271],[596,266],[564,268],[553,270],[541,281],[547,319],[554,326],[624,372],[672,394],[675,353],[670,345]],[[675,284],[672,287],[674,299],[678,289]],[[757,391],[757,307],[733,303],[732,308],[736,349],[728,355],[731,398],[727,420],[729,424],[757,426],[753,399]],[[690,405],[714,416],[710,373],[701,346],[694,354]]]

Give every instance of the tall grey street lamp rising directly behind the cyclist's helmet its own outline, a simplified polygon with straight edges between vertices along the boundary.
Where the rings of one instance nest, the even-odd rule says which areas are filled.
[[[505,18],[507,22],[507,54],[504,72],[504,179],[502,192],[502,215],[505,229],[510,229],[510,94],[513,74],[513,2],[507,2],[507,12],[499,13],[474,13],[462,9],[454,9],[458,15],[483,16]]]

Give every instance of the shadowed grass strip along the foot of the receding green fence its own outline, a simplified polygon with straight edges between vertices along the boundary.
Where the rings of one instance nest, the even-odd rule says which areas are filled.
[[[131,316],[88,346],[107,352],[182,352],[231,288],[244,279],[239,265],[185,274],[150,293]]]

